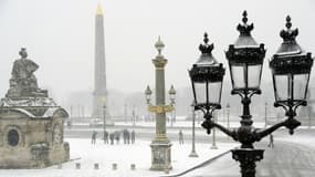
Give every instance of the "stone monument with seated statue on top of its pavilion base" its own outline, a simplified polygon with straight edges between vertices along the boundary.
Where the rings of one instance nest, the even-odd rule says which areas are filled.
[[[13,64],[10,88],[0,101],[0,168],[42,168],[69,160],[63,142],[65,110],[38,86],[38,64],[27,59]]]

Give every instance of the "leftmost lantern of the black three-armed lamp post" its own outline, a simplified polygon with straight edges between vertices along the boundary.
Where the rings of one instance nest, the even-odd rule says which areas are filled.
[[[209,134],[211,127],[207,126],[207,122],[211,121],[214,110],[221,108],[222,81],[225,69],[212,55],[213,43],[208,44],[209,39],[207,33],[204,33],[203,42],[203,44],[199,45],[202,54],[192,65],[189,75],[192,84],[195,108],[201,110],[204,113],[206,122],[202,126]]]

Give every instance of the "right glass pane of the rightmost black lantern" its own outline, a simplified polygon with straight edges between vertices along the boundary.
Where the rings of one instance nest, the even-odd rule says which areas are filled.
[[[296,74],[294,75],[294,100],[306,98],[306,86],[309,74]]]

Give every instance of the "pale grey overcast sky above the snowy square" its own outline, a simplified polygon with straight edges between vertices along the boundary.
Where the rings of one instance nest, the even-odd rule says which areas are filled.
[[[166,44],[166,87],[188,86],[187,69],[199,58],[203,32],[214,43],[214,56],[227,66],[223,51],[238,37],[235,27],[248,10],[253,37],[265,43],[267,60],[282,42],[285,17],[298,27],[298,43],[315,52],[314,0],[0,0],[0,97],[9,87],[12,62],[25,46],[40,69],[40,87],[53,95],[93,91],[94,18],[101,2],[105,22],[108,88],[130,93],[154,86],[154,48]],[[228,72],[227,72],[228,73]],[[313,73],[314,77],[314,73]],[[230,80],[229,74],[225,81]],[[313,82],[313,81],[311,81]]]

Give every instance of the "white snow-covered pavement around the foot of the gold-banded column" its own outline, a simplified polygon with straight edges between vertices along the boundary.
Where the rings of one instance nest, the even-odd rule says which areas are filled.
[[[44,169],[1,169],[1,177],[147,177],[167,175],[164,171],[151,171],[151,153],[149,140],[137,140],[133,145],[105,145],[97,139],[96,145],[91,144],[87,138],[69,138],[71,159],[75,159],[62,165],[62,169],[52,166]],[[196,144],[198,158],[188,157],[191,152],[191,144],[179,145],[174,143],[171,147],[172,170],[168,175],[182,173],[192,168],[211,157],[216,157],[237,144],[218,143],[219,149],[210,149],[211,144]],[[77,159],[80,158],[80,159]],[[75,169],[75,164],[81,164],[81,169]],[[94,169],[94,164],[99,164],[99,169]],[[117,164],[117,169],[112,168]],[[135,164],[136,169],[132,170],[130,165]]]

